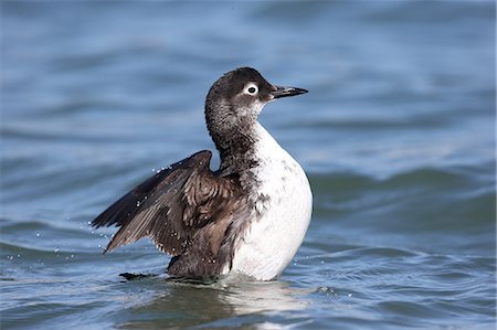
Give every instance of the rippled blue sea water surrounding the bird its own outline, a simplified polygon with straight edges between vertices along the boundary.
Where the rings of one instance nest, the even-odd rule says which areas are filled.
[[[3,1],[1,328],[495,329],[495,9]],[[303,247],[269,283],[121,281],[168,257],[87,223],[213,149],[241,65],[310,91],[261,117],[311,181]]]

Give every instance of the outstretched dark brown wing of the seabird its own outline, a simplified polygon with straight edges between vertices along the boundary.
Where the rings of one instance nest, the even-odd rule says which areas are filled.
[[[148,236],[162,252],[179,255],[237,191],[235,179],[211,172],[211,157],[200,151],[163,169],[98,215],[93,226],[120,227],[105,252]]]

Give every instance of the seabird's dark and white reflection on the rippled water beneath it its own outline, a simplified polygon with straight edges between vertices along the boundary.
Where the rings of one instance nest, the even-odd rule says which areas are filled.
[[[118,326],[124,328],[148,328],[161,326],[223,327],[223,321],[239,316],[278,315],[304,310],[308,301],[304,298],[307,289],[292,288],[287,281],[267,283],[225,279],[213,284],[178,283],[158,278],[145,281],[158,290],[150,301],[131,307],[127,320]],[[144,281],[128,285],[142,286]],[[160,320],[157,317],[160,315]],[[169,315],[169,317],[168,317]],[[129,317],[130,316],[130,317]],[[150,319],[151,318],[151,319]],[[178,322],[181,319],[181,322]],[[224,324],[228,327],[230,322]]]

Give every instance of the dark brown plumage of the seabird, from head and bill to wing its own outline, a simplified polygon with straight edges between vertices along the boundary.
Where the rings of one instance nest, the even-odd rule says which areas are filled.
[[[212,172],[212,153],[200,151],[137,185],[92,222],[119,227],[105,252],[150,237],[173,256],[170,275],[211,276],[231,268],[237,235],[254,219],[250,191],[255,187],[246,179],[257,164],[252,126],[264,104],[302,93],[306,91],[275,87],[248,67],[223,75],[205,100],[220,170]]]

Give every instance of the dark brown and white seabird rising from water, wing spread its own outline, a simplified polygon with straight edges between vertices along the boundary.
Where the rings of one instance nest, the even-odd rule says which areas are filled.
[[[204,106],[219,169],[210,169],[212,152],[202,150],[123,195],[91,223],[118,227],[104,254],[149,237],[171,256],[173,278],[281,276],[304,241],[313,193],[258,116],[266,104],[307,92],[273,85],[252,67],[223,74]]]

